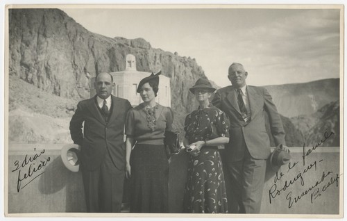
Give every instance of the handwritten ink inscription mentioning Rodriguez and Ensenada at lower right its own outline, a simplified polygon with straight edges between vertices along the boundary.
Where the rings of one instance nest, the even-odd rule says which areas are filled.
[[[339,186],[339,178],[341,174],[336,174],[333,171],[327,170],[328,168],[324,168],[325,171],[320,172],[321,174],[319,174],[318,178],[313,180],[313,184],[310,184],[312,183],[312,173],[317,173],[317,168],[321,165],[321,162],[323,162],[323,158],[310,159],[309,156],[318,147],[321,147],[326,140],[332,138],[334,135],[334,132],[328,133],[328,131],[325,130],[322,134],[323,138],[319,142],[316,142],[312,148],[307,149],[304,143],[302,162],[290,162],[287,165],[287,170],[276,172],[273,179],[273,185],[269,188],[270,204],[280,195],[285,195],[284,198],[287,199],[288,208],[291,208],[294,204],[300,202],[306,195],[310,196],[310,202],[313,204],[315,200],[319,199],[319,197],[323,195],[325,190],[331,186]],[[291,172],[293,169],[295,169],[294,171],[297,171],[294,175],[292,175],[293,173]],[[291,173],[289,174],[289,172]],[[307,184],[307,180],[309,181],[309,184]],[[294,190],[298,193],[294,193]]]

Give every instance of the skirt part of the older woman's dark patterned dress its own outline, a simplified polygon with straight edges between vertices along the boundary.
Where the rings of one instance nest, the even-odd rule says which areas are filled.
[[[226,185],[217,149],[203,148],[198,156],[190,156],[183,211],[228,213]]]

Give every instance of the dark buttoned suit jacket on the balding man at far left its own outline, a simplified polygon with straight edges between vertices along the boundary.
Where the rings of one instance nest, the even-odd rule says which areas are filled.
[[[90,171],[101,165],[105,154],[110,154],[112,163],[119,170],[125,167],[124,123],[131,105],[126,99],[113,95],[111,98],[108,122],[99,111],[96,97],[80,101],[70,121],[71,138],[81,146],[81,163]]]

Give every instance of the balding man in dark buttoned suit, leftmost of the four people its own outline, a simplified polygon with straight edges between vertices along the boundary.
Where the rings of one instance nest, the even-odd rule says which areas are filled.
[[[111,95],[114,86],[111,74],[97,75],[96,96],[78,103],[69,127],[72,140],[81,146],[78,160],[87,211],[91,213],[121,211],[126,153],[124,122],[131,105],[128,100]]]

